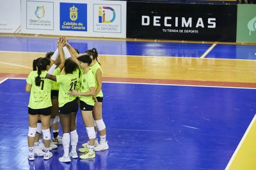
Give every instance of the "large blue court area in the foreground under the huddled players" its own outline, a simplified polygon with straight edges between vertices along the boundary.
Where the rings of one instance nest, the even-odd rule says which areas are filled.
[[[60,163],[27,159],[25,80],[0,84],[0,169],[225,169],[255,115],[255,89],[103,83],[109,150]],[[77,116],[78,146],[86,132]]]

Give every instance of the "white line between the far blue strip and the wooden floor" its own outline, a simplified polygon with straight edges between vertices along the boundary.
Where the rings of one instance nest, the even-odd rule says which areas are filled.
[[[217,45],[217,44],[216,44]],[[209,50],[209,49],[208,49]],[[47,53],[47,52],[13,52],[13,51],[0,51],[0,52],[8,52],[8,53]],[[119,56],[119,57],[157,57],[157,58],[184,58],[184,59],[213,59],[213,60],[252,60],[252,59],[221,59],[221,58],[201,58],[202,55],[200,57],[179,57],[179,56],[156,56],[156,55],[117,55],[117,54],[99,54],[99,56]],[[255,60],[252,60],[255,61]]]

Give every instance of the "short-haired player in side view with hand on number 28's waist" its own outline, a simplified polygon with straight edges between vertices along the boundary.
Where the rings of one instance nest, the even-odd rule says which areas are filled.
[[[81,115],[84,125],[88,134],[89,144],[88,148],[84,150],[84,154],[80,155],[80,159],[90,159],[95,157],[94,144],[95,144],[95,131],[93,127],[92,110],[95,104],[93,96],[95,94],[95,78],[92,74],[92,70],[89,69],[89,65],[92,63],[92,59],[89,55],[81,55],[80,57],[72,56],[73,59],[81,67],[81,88],[79,92],[77,90],[70,91],[72,96],[79,96]],[[79,152],[81,152],[79,150]]]

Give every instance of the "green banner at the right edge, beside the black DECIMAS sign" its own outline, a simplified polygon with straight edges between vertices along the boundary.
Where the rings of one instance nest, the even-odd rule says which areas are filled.
[[[236,41],[256,43],[256,4],[238,4]]]

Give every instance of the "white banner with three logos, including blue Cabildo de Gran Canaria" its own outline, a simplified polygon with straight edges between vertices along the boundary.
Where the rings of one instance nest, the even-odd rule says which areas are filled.
[[[126,38],[126,1],[24,0],[21,32]]]

